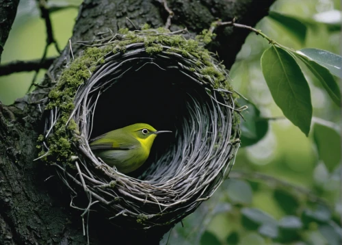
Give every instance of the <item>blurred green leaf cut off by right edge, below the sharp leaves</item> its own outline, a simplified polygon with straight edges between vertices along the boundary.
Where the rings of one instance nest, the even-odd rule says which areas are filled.
[[[313,125],[313,137],[319,159],[330,171],[341,162],[341,136],[337,128],[337,125],[321,119],[315,120]]]

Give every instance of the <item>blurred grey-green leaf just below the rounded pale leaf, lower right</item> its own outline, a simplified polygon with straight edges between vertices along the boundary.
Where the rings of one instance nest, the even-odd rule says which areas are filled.
[[[258,229],[261,224],[277,224],[272,216],[257,208],[244,207],[241,209],[241,214],[242,224],[247,229]]]

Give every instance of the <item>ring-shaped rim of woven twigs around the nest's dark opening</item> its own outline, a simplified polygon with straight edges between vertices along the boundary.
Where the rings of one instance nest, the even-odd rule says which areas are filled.
[[[72,171],[68,170],[68,166],[66,164],[58,163],[58,161],[53,163],[53,166],[56,167],[62,181],[66,183],[70,190],[72,190],[74,193],[77,193],[77,188],[86,191],[86,194],[90,200],[88,207],[77,207],[77,209],[82,209],[84,211],[83,214],[89,212],[90,207],[92,207],[92,205],[95,203],[100,203],[100,205],[107,209],[107,211],[109,210],[109,213],[107,212],[107,216],[108,214],[115,214],[111,217],[108,216],[110,220],[114,220],[114,218],[118,218],[118,216],[125,216],[125,219],[128,218],[129,220],[128,223],[130,224],[130,227],[131,224],[138,223],[137,229],[147,229],[156,225],[172,224],[192,213],[192,211],[194,211],[202,201],[207,200],[213,194],[213,192],[215,192],[222,181],[228,176],[228,172],[233,166],[236,151],[239,148],[239,126],[237,122],[238,117],[235,115],[235,98],[233,97],[233,92],[226,89],[225,83],[228,80],[226,71],[220,64],[218,64],[217,60],[211,57],[211,55],[207,57],[207,52],[205,53],[207,60],[203,60],[202,57],[196,57],[196,54],[194,53],[185,53],[184,50],[177,49],[177,47],[168,46],[166,43],[155,41],[149,43],[148,41],[146,44],[145,39],[144,42],[142,42],[142,39],[140,39],[139,42],[136,42],[137,36],[140,38],[145,38],[146,36],[151,35],[168,38],[179,36],[179,34],[181,34],[181,31],[167,32],[161,30],[162,29],[148,29],[146,31],[133,32],[123,30],[120,34],[114,34],[109,38],[105,38],[105,41],[101,40],[100,42],[91,44],[89,49],[94,47],[98,49],[98,47],[100,47],[100,49],[103,49],[103,52],[101,55],[96,56],[96,59],[94,59],[96,60],[96,62],[93,62],[92,64],[92,67],[94,68],[88,68],[91,76],[86,77],[84,83],[80,84],[79,86],[74,86],[77,88],[77,90],[73,98],[73,108],[72,110],[70,108],[68,109],[69,116],[68,120],[66,121],[66,126],[68,125],[66,132],[71,133],[73,138],[73,140],[70,140],[70,149],[72,149],[70,151],[76,152],[68,157],[70,157],[71,162],[75,164],[76,170],[72,171],[74,171],[76,175],[73,175],[71,173]],[[132,36],[135,36],[135,38],[132,38]],[[183,36],[181,36],[181,38],[183,38]],[[131,42],[127,42],[127,40],[130,40]],[[186,43],[188,40],[185,40],[184,38],[183,42]],[[114,47],[111,46],[111,50],[104,48],[107,47],[105,45],[112,45],[113,43],[116,45],[114,45]],[[198,45],[197,49],[202,51],[202,45]],[[110,168],[107,166],[107,164],[101,162],[101,159],[98,159],[90,150],[88,140],[91,134],[89,133],[91,131],[91,125],[84,125],[82,120],[80,120],[80,118],[90,119],[90,116],[94,116],[94,112],[92,112],[92,110],[95,109],[96,103],[91,104],[90,101],[94,101],[94,98],[96,97],[94,96],[94,91],[99,88],[94,86],[96,86],[97,83],[103,82],[101,80],[103,77],[101,76],[105,76],[104,73],[108,73],[110,67],[112,69],[110,74],[112,75],[113,71],[115,74],[115,71],[118,70],[119,67],[119,65],[116,64],[118,67],[116,67],[116,70],[113,70],[113,66],[115,68],[116,60],[123,60],[122,62],[127,62],[131,55],[133,57],[134,55],[142,53],[145,55],[144,59],[146,59],[146,62],[150,61],[152,59],[151,57],[156,57],[158,55],[160,56],[159,58],[177,60],[179,68],[183,69],[183,74],[189,80],[197,82],[200,86],[203,86],[203,89],[207,92],[210,98],[212,105],[205,105],[207,111],[204,110],[202,113],[205,114],[209,112],[210,114],[210,107],[212,106],[213,108],[218,109],[217,112],[213,112],[215,114],[216,120],[218,120],[218,118],[221,116],[220,120],[221,123],[223,123],[223,126],[228,125],[228,127],[224,129],[224,132],[226,132],[224,135],[226,137],[226,143],[224,144],[223,149],[227,150],[230,147],[229,153],[226,154],[224,151],[222,151],[222,149],[219,148],[219,150],[221,150],[221,154],[226,154],[223,157],[225,162],[222,161],[224,163],[221,165],[213,164],[216,167],[220,166],[220,168],[217,168],[213,175],[206,175],[205,177],[209,177],[207,181],[203,182],[199,186],[192,186],[195,188],[187,192],[187,194],[183,195],[183,197],[177,201],[172,201],[172,198],[174,199],[174,196],[177,196],[177,194],[174,194],[174,196],[170,194],[170,186],[176,185],[176,181],[184,178],[185,175],[175,175],[171,179],[168,179],[159,185],[158,181],[153,179],[147,181],[136,179],[124,175],[121,172],[116,171],[114,168]],[[140,57],[140,59],[142,59],[142,57]],[[181,61],[183,61],[183,63]],[[120,64],[120,66],[123,65]],[[209,73],[209,71],[211,73]],[[120,73],[120,76],[122,76],[127,72],[127,70],[120,70],[120,72],[122,72]],[[222,76],[224,80],[219,81],[219,79],[222,79]],[[109,79],[103,84],[110,83],[110,81],[113,81],[113,79]],[[103,84],[102,86],[105,86]],[[75,90],[75,88],[73,89]],[[90,101],[88,101],[90,91],[92,91],[93,97],[90,97]],[[98,96],[101,96],[101,94],[98,93],[97,99]],[[218,99],[218,97],[220,97],[220,99]],[[53,99],[55,99],[54,96],[50,96],[50,100],[53,101]],[[190,109],[195,108],[196,111],[196,108],[201,107],[196,99],[194,99],[193,103],[194,104],[190,106]],[[85,107],[88,109],[88,112],[84,110]],[[50,104],[47,108],[49,109],[49,116],[46,118],[45,136],[41,139],[45,151],[43,151],[42,155],[40,156],[41,158],[47,157],[47,153],[50,152],[49,136],[51,136],[51,134],[55,134],[58,130],[53,128],[59,120],[59,115],[61,114],[60,110],[62,107],[57,107]],[[92,113],[88,115],[89,112]],[[200,117],[201,111],[199,110],[195,114]],[[228,122],[226,122],[225,116],[228,116]],[[196,117],[192,118],[192,120],[195,119]],[[213,131],[215,131],[215,135],[218,134],[217,128],[213,129]],[[219,142],[217,142],[217,144]],[[215,145],[211,144],[209,148],[213,150],[214,147]],[[174,151],[176,150],[174,149]],[[218,152],[219,151],[215,151],[215,155],[218,155]],[[207,156],[207,159],[210,157],[213,156],[209,155]],[[205,161],[203,161],[202,167],[204,166]],[[224,170],[222,172],[223,168]],[[95,176],[94,173],[96,172],[96,174],[98,174],[98,170],[100,170],[102,175],[105,175],[105,177]],[[153,171],[156,172],[157,170],[158,168],[151,168],[150,172],[153,173]],[[203,176],[204,175],[200,176],[200,179],[203,179]],[[75,188],[73,184],[70,184],[68,179],[71,179],[71,183],[76,184],[77,188]],[[171,183],[171,185],[168,185],[168,183]],[[190,187],[191,185],[187,185],[185,186],[184,190],[188,190]],[[146,198],[142,198],[141,193],[144,193]],[[150,193],[153,193],[153,195],[151,196]],[[155,193],[159,193],[159,196],[156,196]],[[169,203],[165,204],[164,199],[166,198],[165,196],[168,195],[172,197],[169,196]],[[96,199],[95,202],[92,201],[92,197]],[[109,197],[111,198],[111,201],[107,200]],[[146,211],[146,207],[150,208],[152,207],[151,205],[153,206],[153,211],[150,214],[148,211]],[[165,218],[163,218],[163,216],[165,216]]]

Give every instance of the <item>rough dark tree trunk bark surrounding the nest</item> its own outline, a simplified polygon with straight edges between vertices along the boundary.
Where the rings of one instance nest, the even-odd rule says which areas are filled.
[[[216,18],[254,26],[267,14],[274,0],[168,0],[174,12],[171,29],[187,27],[195,35]],[[165,25],[168,12],[153,0],[85,0],[81,5],[72,41],[92,40],[108,28],[144,23]],[[209,47],[218,52],[230,68],[248,32],[232,28],[218,30]],[[76,55],[81,47],[73,45]],[[67,51],[50,68],[57,80]],[[51,79],[44,85],[53,86]],[[70,196],[57,181],[49,166],[33,162],[37,155],[36,138],[42,130],[42,113],[36,101],[47,96],[49,88],[38,88],[11,106],[0,103],[0,244],[85,244],[79,212],[69,207]],[[158,244],[170,227],[148,231],[119,231],[96,214],[90,215],[92,244]],[[121,240],[121,241],[120,241]]]

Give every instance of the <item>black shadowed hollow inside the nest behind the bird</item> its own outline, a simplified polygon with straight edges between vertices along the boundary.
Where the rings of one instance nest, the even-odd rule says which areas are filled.
[[[142,173],[153,163],[155,166],[161,156],[169,155],[172,149],[182,148],[177,142],[185,124],[191,120],[190,107],[196,106],[194,101],[206,103],[207,97],[200,86],[192,84],[179,70],[162,70],[155,64],[146,64],[117,79],[98,97],[90,138],[134,123],[148,123],[157,130],[172,131],[158,136],[145,164],[129,174],[139,179],[151,179]],[[196,133],[195,130],[190,126],[191,133]]]

